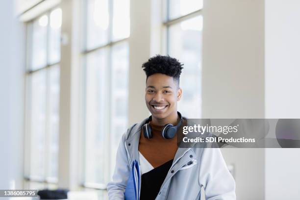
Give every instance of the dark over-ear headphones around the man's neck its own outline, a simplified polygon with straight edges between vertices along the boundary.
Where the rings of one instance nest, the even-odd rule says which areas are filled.
[[[182,124],[182,116],[180,114],[180,112],[177,111],[177,114],[180,118],[179,122],[177,125],[172,125],[172,124],[166,124],[163,126],[163,128],[161,129],[161,136],[165,139],[171,139],[174,138],[178,127],[180,127],[180,125]],[[152,120],[152,116],[149,117],[149,119],[146,121],[145,125],[142,126],[143,129],[143,135],[145,138],[150,139],[153,137],[152,135],[152,129],[151,129],[151,125],[149,124]]]

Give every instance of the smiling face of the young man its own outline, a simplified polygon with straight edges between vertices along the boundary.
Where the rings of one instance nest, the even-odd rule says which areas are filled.
[[[177,101],[181,98],[181,88],[172,76],[150,75],[146,81],[145,100],[152,114],[153,122],[174,123],[177,119]],[[160,124],[160,123],[159,123]]]

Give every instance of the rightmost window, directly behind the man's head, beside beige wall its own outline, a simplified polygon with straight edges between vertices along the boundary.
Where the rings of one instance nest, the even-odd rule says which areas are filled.
[[[188,118],[200,118],[203,0],[167,0],[165,4],[166,51],[184,63],[178,110]]]

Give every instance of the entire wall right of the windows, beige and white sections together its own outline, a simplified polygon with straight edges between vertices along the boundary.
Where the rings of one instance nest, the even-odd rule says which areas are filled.
[[[299,19],[299,0],[204,1],[204,118],[300,118]],[[237,199],[299,199],[299,149],[222,151]]]

